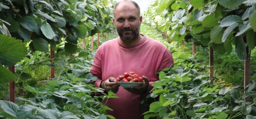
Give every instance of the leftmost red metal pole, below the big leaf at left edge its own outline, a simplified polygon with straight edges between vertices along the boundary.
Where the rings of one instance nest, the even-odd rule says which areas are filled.
[[[14,74],[15,67],[9,66],[9,70]],[[9,82],[9,101],[15,103],[15,83]]]

